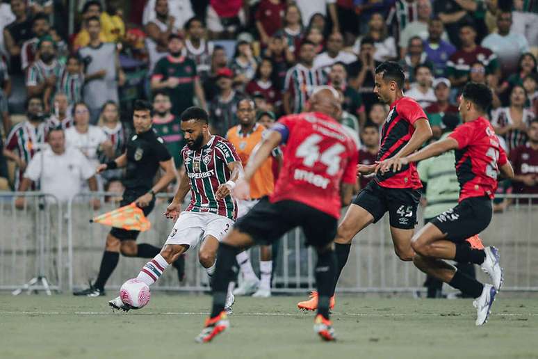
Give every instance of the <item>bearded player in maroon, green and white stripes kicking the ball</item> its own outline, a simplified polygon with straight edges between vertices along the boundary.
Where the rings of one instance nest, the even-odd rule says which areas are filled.
[[[212,278],[219,242],[236,220],[237,203],[230,191],[243,173],[241,159],[233,145],[220,136],[211,136],[208,127],[209,116],[202,109],[189,107],[181,114],[181,130],[187,143],[181,150],[186,175],[165,213],[167,218],[176,221],[174,228],[161,253],[138,273],[137,278],[147,285],[156,282],[168,264],[197,246],[199,241],[202,241],[199,262]],[[181,212],[181,203],[189,191],[190,204]],[[234,295],[225,292],[225,302],[229,312]],[[130,309],[119,296],[108,304],[115,309]]]

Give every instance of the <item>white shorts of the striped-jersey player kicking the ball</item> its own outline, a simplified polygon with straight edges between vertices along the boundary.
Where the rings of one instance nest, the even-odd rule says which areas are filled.
[[[233,220],[218,214],[181,212],[165,244],[186,244],[191,248],[207,236],[215,237],[220,242],[233,225]]]

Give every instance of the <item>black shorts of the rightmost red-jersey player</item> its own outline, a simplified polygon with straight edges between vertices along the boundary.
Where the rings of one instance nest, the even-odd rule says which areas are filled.
[[[460,242],[485,230],[492,216],[493,208],[489,197],[471,197],[439,214],[431,223],[447,234],[450,241]]]

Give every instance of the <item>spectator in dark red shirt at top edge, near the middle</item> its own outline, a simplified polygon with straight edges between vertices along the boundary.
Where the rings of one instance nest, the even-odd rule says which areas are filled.
[[[256,30],[260,35],[261,45],[266,47],[270,37],[282,28],[282,17],[284,17],[286,4],[284,0],[261,0],[254,19],[256,20]]]

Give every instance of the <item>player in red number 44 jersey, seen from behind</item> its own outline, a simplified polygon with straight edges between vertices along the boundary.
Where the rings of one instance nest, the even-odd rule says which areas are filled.
[[[249,198],[248,186],[256,170],[283,143],[284,167],[275,191],[239,218],[218,249],[213,280],[213,308],[197,342],[209,342],[229,326],[225,312],[226,291],[236,254],[254,244],[272,244],[289,230],[300,227],[307,245],[318,253],[316,283],[319,292],[314,331],[323,340],[334,340],[329,320],[329,293],[332,290],[336,258],[332,241],[342,204],[347,205],[356,182],[358,150],[352,138],[334,118],[341,104],[334,88],[316,88],[311,96],[315,112],[281,118],[251,155],[245,177],[236,188],[236,197]]]

